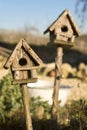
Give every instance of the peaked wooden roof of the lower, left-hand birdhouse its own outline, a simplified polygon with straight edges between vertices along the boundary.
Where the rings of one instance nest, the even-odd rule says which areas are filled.
[[[24,40],[24,39],[21,39],[19,41],[19,43],[16,45],[15,49],[13,50],[12,54],[10,55],[10,57],[7,59],[7,62],[5,63],[4,67],[5,68],[9,68],[14,59],[16,58],[17,56],[17,51],[19,51],[22,47],[25,48],[26,50],[26,53],[28,53],[34,60],[35,62],[38,64],[38,65],[41,65],[43,62],[42,60],[38,57],[38,55],[33,51],[33,49],[29,46],[29,44]]]

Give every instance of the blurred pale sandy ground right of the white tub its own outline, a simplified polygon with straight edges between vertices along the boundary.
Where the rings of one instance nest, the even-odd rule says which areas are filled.
[[[85,98],[87,99],[87,82],[77,78],[63,79],[61,84],[72,86],[70,94],[68,95],[68,101],[78,100]]]

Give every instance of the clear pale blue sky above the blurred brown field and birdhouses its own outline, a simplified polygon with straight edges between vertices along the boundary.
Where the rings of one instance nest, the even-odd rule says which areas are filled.
[[[0,0],[0,28],[21,30],[29,27],[43,33],[65,9],[70,10],[79,26],[75,3],[76,0]]]

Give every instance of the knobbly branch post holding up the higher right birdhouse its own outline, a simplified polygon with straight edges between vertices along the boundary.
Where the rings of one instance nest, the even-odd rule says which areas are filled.
[[[62,56],[63,56],[63,48],[57,48],[57,57],[55,58],[55,84],[53,91],[53,105],[52,105],[52,118],[57,120],[59,118],[59,110],[58,110],[58,95],[59,95],[59,87],[60,81],[62,78],[61,65],[62,65]]]

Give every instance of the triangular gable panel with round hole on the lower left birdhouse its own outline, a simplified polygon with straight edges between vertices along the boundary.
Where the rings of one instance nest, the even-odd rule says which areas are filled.
[[[35,66],[34,59],[25,51],[22,47],[17,51],[16,57],[12,64],[13,70],[29,70],[29,68]]]

